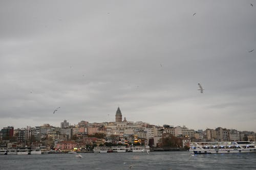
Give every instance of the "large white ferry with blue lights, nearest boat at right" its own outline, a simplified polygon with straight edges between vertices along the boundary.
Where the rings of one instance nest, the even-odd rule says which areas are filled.
[[[192,142],[190,154],[256,153],[255,143],[250,141]]]

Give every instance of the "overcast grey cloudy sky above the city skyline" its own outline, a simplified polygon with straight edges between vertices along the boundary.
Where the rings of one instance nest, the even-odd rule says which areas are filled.
[[[252,0],[0,1],[0,128],[114,122],[120,107],[256,132],[255,16]]]

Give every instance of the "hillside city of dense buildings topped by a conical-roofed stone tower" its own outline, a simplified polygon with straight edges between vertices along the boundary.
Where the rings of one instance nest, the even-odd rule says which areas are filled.
[[[45,147],[47,150],[65,151],[78,148],[90,151],[96,146],[149,145],[155,148],[189,148],[198,141],[256,141],[256,133],[218,127],[193,130],[185,126],[155,126],[122,119],[118,107],[115,122],[89,123],[81,120],[71,126],[67,120],[60,127],[49,124],[18,128],[4,127],[0,131],[1,148]]]

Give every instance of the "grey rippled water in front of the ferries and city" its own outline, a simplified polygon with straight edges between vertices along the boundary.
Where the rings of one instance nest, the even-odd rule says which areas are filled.
[[[0,169],[256,169],[256,154],[188,152],[0,155]]]

